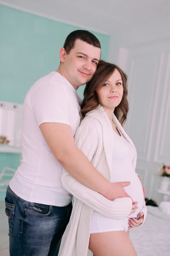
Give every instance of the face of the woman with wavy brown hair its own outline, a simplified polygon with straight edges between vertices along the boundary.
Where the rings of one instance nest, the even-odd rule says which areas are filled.
[[[100,104],[104,109],[114,109],[120,104],[123,97],[123,82],[118,70],[112,73],[102,87],[96,91]]]

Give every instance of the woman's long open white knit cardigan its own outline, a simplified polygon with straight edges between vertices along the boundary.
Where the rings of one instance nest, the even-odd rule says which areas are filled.
[[[133,167],[135,169],[135,146],[114,114],[112,120],[135,150],[135,157],[133,159]],[[114,138],[112,125],[101,105],[86,115],[75,134],[75,144],[77,147],[83,151],[98,172],[108,180],[110,180],[112,170]],[[75,196],[75,201],[69,224],[61,241],[58,256],[86,256],[93,211],[95,210],[111,218],[126,218],[130,215],[132,200],[131,198],[117,198],[114,201],[110,201],[98,192],[76,181],[65,170],[63,170],[61,181],[63,187]],[[144,212],[145,220],[147,215],[145,203],[141,211]]]

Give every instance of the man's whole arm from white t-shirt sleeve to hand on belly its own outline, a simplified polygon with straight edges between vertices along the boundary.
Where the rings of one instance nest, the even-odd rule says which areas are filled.
[[[43,83],[32,90],[28,104],[55,158],[72,177],[109,200],[129,197],[121,183],[115,185],[105,179],[75,146],[70,126],[70,96],[65,87],[56,82]]]

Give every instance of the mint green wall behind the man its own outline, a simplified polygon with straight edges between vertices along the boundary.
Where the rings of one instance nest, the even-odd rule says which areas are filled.
[[[58,68],[59,50],[76,29],[81,28],[0,5],[0,100],[23,103],[32,84]],[[91,32],[107,60],[109,36]],[[83,90],[78,90],[81,97]],[[0,153],[0,172],[3,166],[18,165],[18,155]]]

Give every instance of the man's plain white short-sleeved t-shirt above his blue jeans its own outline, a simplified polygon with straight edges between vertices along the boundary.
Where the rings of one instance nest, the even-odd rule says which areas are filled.
[[[49,149],[39,126],[44,122],[80,125],[81,99],[61,74],[51,72],[33,84],[23,105],[22,160],[9,183],[12,191],[29,202],[63,207],[72,196],[61,184],[63,167]],[[57,147],[58,145],[56,145]]]

